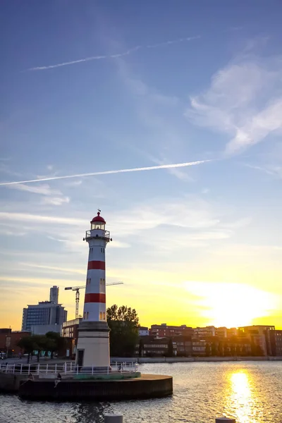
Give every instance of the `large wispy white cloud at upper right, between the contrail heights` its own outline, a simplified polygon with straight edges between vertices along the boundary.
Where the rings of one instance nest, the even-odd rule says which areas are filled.
[[[185,116],[231,136],[227,155],[241,152],[282,128],[281,71],[278,58],[240,57],[213,75],[206,92],[190,97]]]

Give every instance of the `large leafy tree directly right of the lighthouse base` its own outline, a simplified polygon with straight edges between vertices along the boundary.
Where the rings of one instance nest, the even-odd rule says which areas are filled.
[[[114,357],[132,357],[138,341],[139,318],[135,309],[112,305],[106,310],[110,331],[110,351]]]

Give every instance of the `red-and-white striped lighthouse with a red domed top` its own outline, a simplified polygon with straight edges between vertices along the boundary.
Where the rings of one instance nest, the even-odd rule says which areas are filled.
[[[106,323],[106,245],[111,241],[98,210],[86,231],[89,246],[83,317],[78,326],[76,364],[102,370],[109,367],[109,326]]]

